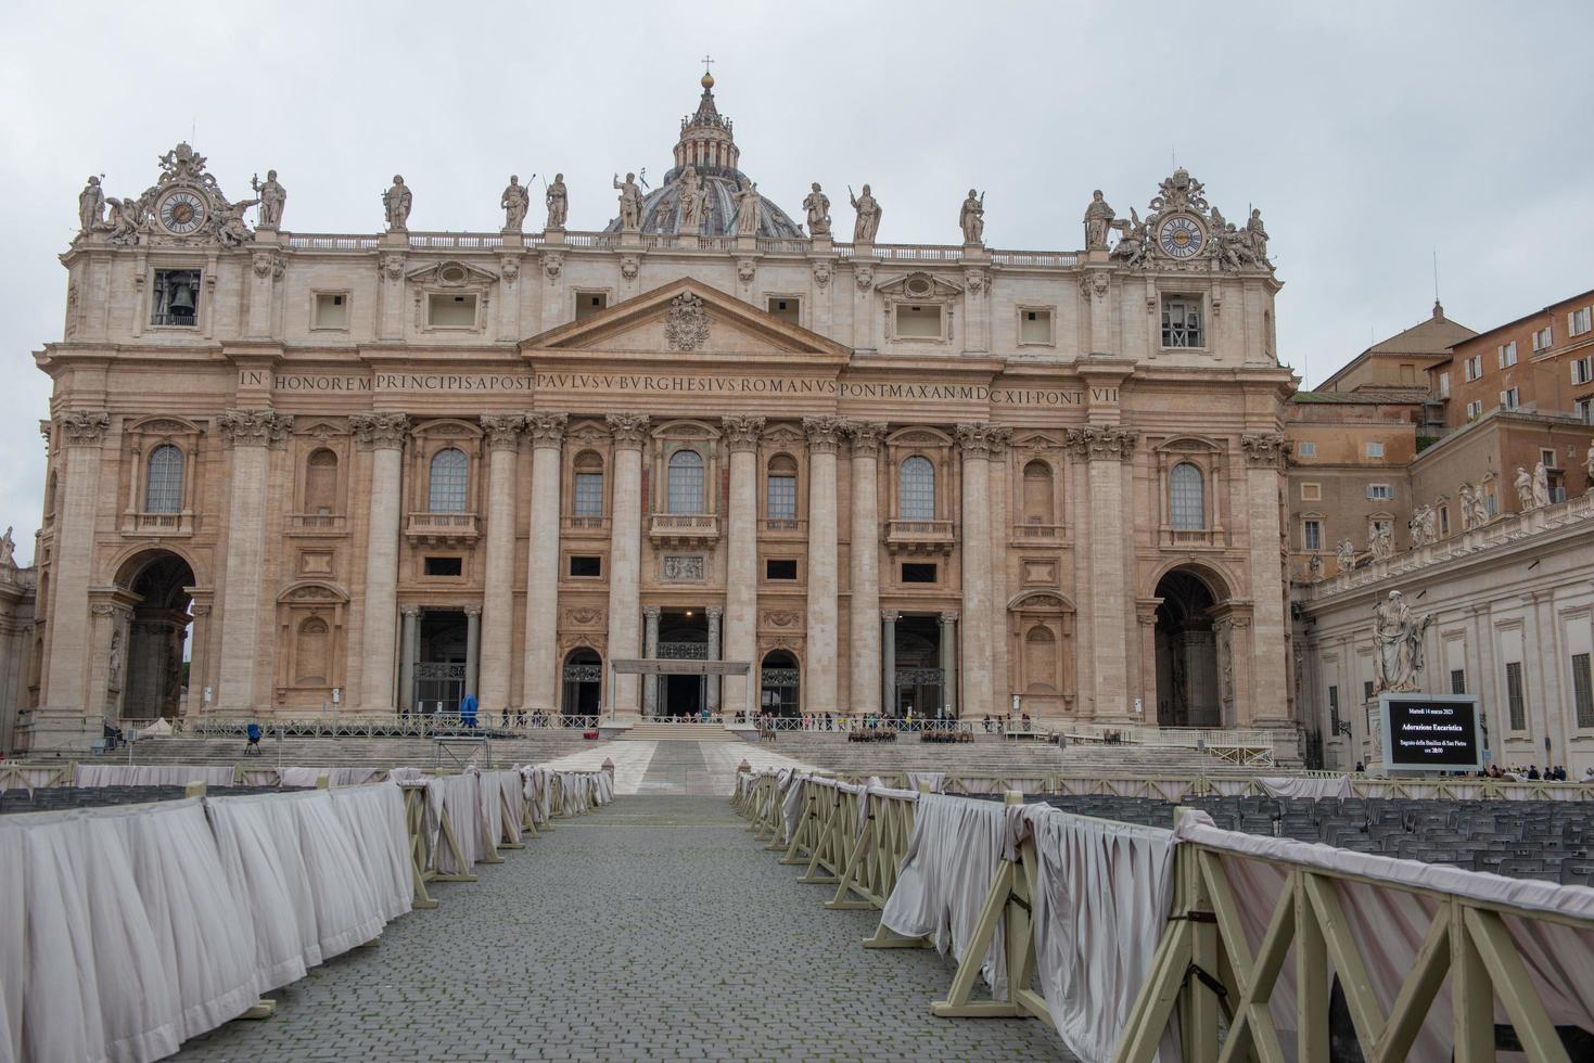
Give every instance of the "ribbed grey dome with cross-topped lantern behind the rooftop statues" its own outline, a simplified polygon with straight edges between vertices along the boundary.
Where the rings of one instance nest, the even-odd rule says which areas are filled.
[[[693,169],[698,183],[708,191],[703,212],[697,218],[701,236],[735,233],[736,191],[748,175],[736,169],[741,151],[732,137],[728,118],[720,116],[714,105],[714,81],[703,78],[703,99],[693,115],[681,120],[681,140],[676,142],[676,164],[665,174],[665,182],[642,199],[644,233],[681,231],[681,188],[687,169]],[[802,239],[802,228],[768,198],[759,196],[759,236]],[[620,231],[620,218],[604,229]]]

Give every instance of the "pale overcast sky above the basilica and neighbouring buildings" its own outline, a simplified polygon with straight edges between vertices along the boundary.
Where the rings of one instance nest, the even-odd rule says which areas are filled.
[[[713,54],[743,169],[800,217],[874,185],[881,242],[1078,249],[1172,159],[1229,218],[1262,209],[1278,347],[1307,382],[1427,317],[1486,328],[1594,287],[1594,3],[14,3],[0,14],[0,524],[32,556],[77,193],[137,194],[190,139],[223,191],[276,167],[284,228],[375,233],[395,171],[416,229],[502,225],[510,172],[563,171],[572,229],[614,171],[671,164]],[[532,212],[536,222],[539,212]]]

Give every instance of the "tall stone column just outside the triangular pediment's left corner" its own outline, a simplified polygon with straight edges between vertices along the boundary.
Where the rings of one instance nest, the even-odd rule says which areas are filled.
[[[481,641],[477,657],[477,698],[481,711],[508,708],[508,665],[515,636],[515,456],[526,418],[481,418],[488,437],[488,555],[486,591],[481,594]]]

